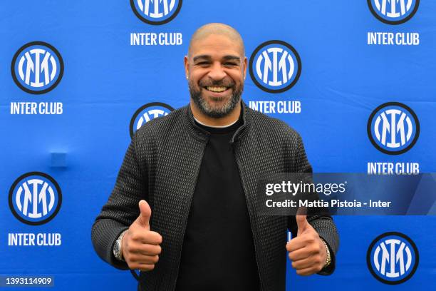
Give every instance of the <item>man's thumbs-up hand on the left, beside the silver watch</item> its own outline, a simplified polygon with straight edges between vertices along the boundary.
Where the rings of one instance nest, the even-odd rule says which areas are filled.
[[[140,200],[139,208],[140,215],[125,233],[121,251],[130,269],[150,271],[159,260],[162,236],[150,231],[150,205],[145,200]]]

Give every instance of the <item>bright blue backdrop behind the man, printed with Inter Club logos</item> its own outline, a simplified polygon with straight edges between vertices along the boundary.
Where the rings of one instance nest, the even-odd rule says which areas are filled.
[[[114,186],[130,127],[137,126],[137,121],[130,124],[135,112],[153,102],[164,103],[166,110],[189,102],[183,56],[195,29],[209,22],[234,26],[242,34],[247,58],[271,40],[284,41],[298,53],[301,75],[294,86],[271,93],[247,74],[243,99],[258,110],[259,101],[299,104],[299,112],[265,112],[301,133],[314,171],[366,173],[368,163],[415,163],[421,173],[436,172],[436,1],[406,0],[410,10],[396,19],[371,12],[370,7],[377,10],[375,2],[383,1],[185,0],[172,19],[171,14],[162,18],[170,21],[155,25],[143,21],[141,11],[137,16],[137,6],[128,0],[2,1],[0,274],[53,275],[56,290],[135,290],[130,272],[110,267],[95,254],[90,228]],[[155,34],[157,44],[135,44],[132,39],[141,33]],[[160,44],[165,36],[179,42]],[[63,74],[55,86],[56,76],[39,88],[28,85],[29,93],[18,85],[26,80],[17,71],[21,65],[22,76],[35,71],[26,71],[31,61],[25,51],[16,59],[14,55],[33,41],[58,51],[51,52],[56,65],[48,58],[45,69],[53,72],[56,66],[59,75],[62,59]],[[26,102],[35,104],[33,114],[31,109],[26,114]],[[368,138],[368,118],[387,102],[408,106],[419,121],[418,138],[404,153],[385,153]],[[56,108],[61,103],[61,110],[45,114],[39,109],[46,103]],[[150,112],[147,116],[153,117]],[[416,127],[410,131],[416,133]],[[31,172],[46,173],[61,192],[56,217],[43,224],[19,220],[13,210],[18,206],[9,205],[9,196],[15,199],[21,185],[17,179]],[[335,220],[341,235],[336,272],[299,277],[289,264],[288,290],[436,290],[435,217]],[[420,257],[415,274],[392,286],[376,280],[366,260],[370,243],[390,231],[408,235]],[[10,234],[17,233],[59,233],[61,244],[11,244]]]

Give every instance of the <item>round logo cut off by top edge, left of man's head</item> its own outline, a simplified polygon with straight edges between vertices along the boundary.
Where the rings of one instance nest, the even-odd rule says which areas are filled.
[[[172,21],[182,8],[182,0],[130,0],[135,15],[147,24]]]

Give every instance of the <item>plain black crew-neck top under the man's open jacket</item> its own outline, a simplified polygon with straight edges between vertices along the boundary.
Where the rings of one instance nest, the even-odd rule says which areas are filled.
[[[204,150],[182,246],[177,291],[259,290],[244,190],[230,144],[242,118],[211,133]]]

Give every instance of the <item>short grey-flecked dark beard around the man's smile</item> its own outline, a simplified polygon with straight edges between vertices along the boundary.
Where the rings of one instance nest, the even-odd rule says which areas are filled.
[[[233,111],[233,109],[237,106],[238,102],[241,100],[242,91],[244,90],[244,84],[239,86],[235,85],[234,82],[226,82],[226,81],[211,81],[211,82],[201,82],[199,86],[196,86],[191,80],[188,82],[188,86],[190,88],[190,95],[192,101],[194,101],[197,108],[206,116],[212,118],[222,118],[227,116],[229,113]],[[202,88],[205,86],[219,86],[219,87],[228,87],[232,89],[232,95],[227,97],[227,100],[222,101],[222,98],[214,98],[211,97],[212,102],[209,103],[202,96]],[[206,90],[206,89],[204,89]],[[216,102],[214,102],[216,101]]]

